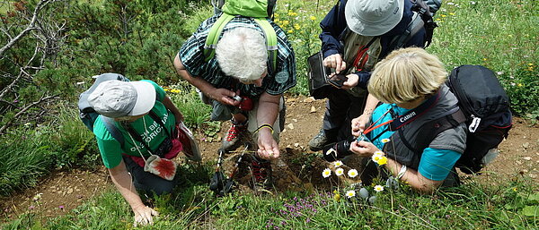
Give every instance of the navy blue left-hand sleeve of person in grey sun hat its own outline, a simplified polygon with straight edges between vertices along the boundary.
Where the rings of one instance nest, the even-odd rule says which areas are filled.
[[[319,38],[322,40],[322,52],[323,57],[329,55],[342,54],[342,46],[340,45],[340,34],[346,30],[347,24],[344,17],[344,6],[346,0],[340,0],[328,13],[322,21],[320,21],[320,27],[322,33]]]

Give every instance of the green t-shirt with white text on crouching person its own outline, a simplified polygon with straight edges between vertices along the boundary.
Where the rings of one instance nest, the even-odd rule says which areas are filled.
[[[152,111],[154,111],[155,114],[161,118],[164,126],[170,133],[174,128],[176,118],[162,103],[165,97],[164,90],[154,81],[143,81],[150,82],[154,85],[157,95]],[[122,153],[140,157],[140,153],[138,152],[134,143],[137,143],[138,149],[145,158],[150,156],[150,153],[146,150],[142,143],[131,138],[129,133],[121,126],[121,124],[119,124],[119,122],[114,122],[116,127],[118,127],[119,132],[123,135],[124,149],[121,149],[119,141],[116,141],[116,139],[112,137],[112,134],[110,134],[110,132],[107,130],[101,118],[102,115],[99,115],[99,117],[95,120],[95,123],[93,124],[93,133],[95,134],[95,139],[97,140],[97,145],[102,155],[103,164],[107,168],[118,166],[122,158]],[[150,115],[144,115],[135,122],[131,123],[131,125],[135,131],[142,136],[142,139],[146,142],[146,145],[152,150],[157,149],[161,142],[168,137],[167,133],[164,132],[163,127],[155,122]]]

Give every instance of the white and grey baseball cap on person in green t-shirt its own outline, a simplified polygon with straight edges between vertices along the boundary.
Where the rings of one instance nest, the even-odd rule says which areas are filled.
[[[148,81],[103,81],[88,96],[100,115],[117,118],[144,115],[155,105],[155,87]]]

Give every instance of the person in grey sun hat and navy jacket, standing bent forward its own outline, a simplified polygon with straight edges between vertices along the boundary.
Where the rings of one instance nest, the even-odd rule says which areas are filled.
[[[340,0],[321,21],[323,64],[346,74],[348,81],[329,96],[323,128],[309,141],[310,149],[346,139],[351,119],[359,115],[358,125],[365,128],[378,103],[366,91],[373,66],[396,47],[423,47],[424,29],[405,44],[392,43],[407,30],[414,15],[411,6],[409,0]]]

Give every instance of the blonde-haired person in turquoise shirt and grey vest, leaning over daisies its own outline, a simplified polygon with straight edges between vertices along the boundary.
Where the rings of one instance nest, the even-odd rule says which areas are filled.
[[[444,84],[446,76],[437,56],[424,49],[403,48],[387,55],[376,64],[368,84],[369,93],[384,103],[376,107],[373,124],[365,130],[372,143],[354,141],[350,150],[365,158],[381,153],[387,157],[388,173],[418,192],[457,185],[454,166],[465,149],[465,124],[440,132],[432,141],[424,138],[439,127],[437,119],[459,109],[455,95]],[[358,118],[352,121],[354,136],[361,134],[358,123]],[[369,164],[367,169],[374,166]],[[372,176],[363,175],[363,179],[368,182]]]

